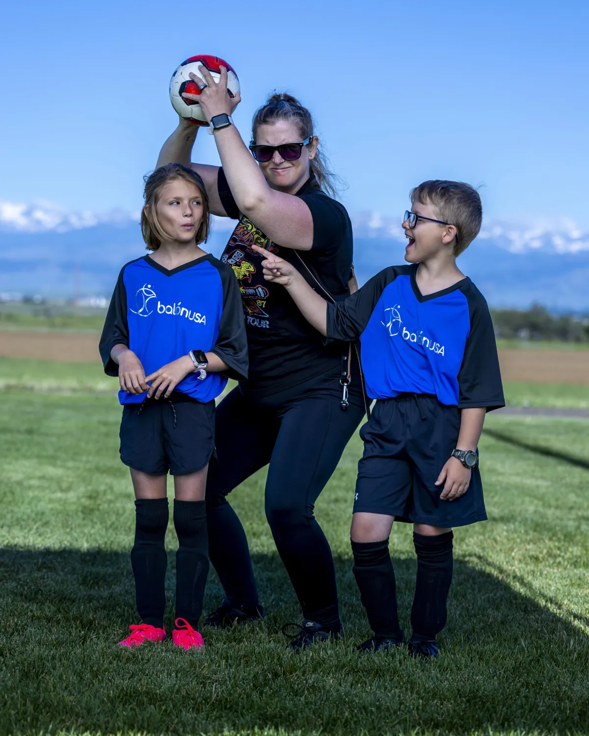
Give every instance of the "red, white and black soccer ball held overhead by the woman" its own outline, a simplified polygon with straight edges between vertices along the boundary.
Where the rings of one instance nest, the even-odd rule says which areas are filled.
[[[238,75],[235,74],[235,69],[229,66],[226,61],[219,59],[218,56],[207,56],[201,54],[199,56],[191,56],[190,59],[183,61],[182,64],[174,71],[172,78],[170,79],[170,100],[172,107],[176,110],[181,118],[189,120],[195,125],[208,125],[206,118],[202,114],[201,106],[198,102],[187,102],[183,97],[182,93],[188,92],[188,94],[200,94],[201,91],[198,86],[190,79],[190,72],[196,74],[197,77],[201,77],[199,72],[199,66],[210,71],[211,76],[218,82],[221,79],[220,66],[224,66],[227,69],[227,92],[229,97],[235,97],[239,92],[239,79]],[[204,80],[203,80],[204,81]]]

